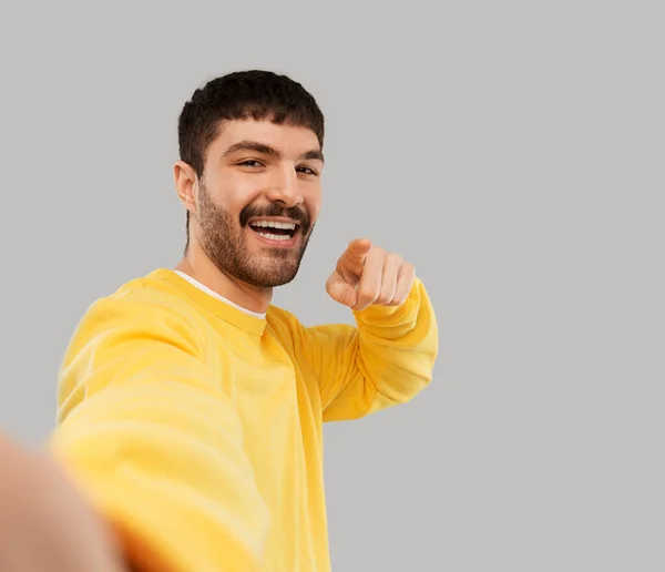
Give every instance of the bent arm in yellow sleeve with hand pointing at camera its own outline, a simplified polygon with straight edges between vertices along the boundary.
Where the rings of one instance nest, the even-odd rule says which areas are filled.
[[[298,328],[296,355],[318,384],[324,421],[407,402],[430,382],[437,319],[410,264],[369,241],[352,241],[326,289],[354,310],[357,327]]]

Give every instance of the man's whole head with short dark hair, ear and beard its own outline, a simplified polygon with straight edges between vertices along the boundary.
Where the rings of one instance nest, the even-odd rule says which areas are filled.
[[[296,276],[321,203],[324,116],[285,75],[234,72],[194,92],[174,168],[192,247],[257,287]]]

